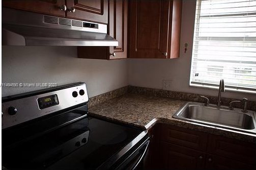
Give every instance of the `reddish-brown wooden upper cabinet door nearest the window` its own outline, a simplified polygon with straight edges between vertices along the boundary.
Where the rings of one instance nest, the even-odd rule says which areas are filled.
[[[130,58],[166,58],[169,1],[129,2]]]

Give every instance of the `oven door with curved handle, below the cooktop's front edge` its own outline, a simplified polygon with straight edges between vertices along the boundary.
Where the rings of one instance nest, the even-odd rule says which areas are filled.
[[[141,144],[135,151],[125,155],[122,162],[116,165],[115,169],[137,169],[143,168],[144,157],[147,154],[149,138]]]

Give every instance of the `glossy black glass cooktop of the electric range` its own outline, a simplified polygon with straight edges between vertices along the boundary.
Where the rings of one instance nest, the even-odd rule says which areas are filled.
[[[94,169],[143,131],[83,114],[73,110],[3,130],[2,164],[9,169]]]

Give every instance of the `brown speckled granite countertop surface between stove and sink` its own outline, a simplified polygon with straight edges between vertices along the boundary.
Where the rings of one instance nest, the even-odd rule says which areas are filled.
[[[103,117],[148,130],[157,123],[167,123],[192,130],[256,142],[256,135],[242,132],[237,133],[232,130],[223,130],[213,126],[202,126],[173,118],[172,116],[186,102],[158,96],[126,93],[117,98],[89,107],[89,112],[91,112],[91,115],[97,117]]]

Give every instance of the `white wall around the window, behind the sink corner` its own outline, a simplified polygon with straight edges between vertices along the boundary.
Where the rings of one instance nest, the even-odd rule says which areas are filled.
[[[170,90],[216,96],[218,90],[189,86],[192,55],[195,1],[183,1],[180,58],[178,59],[129,59],[129,85],[162,89],[162,80],[172,80]],[[184,44],[188,50],[184,54]],[[227,98],[248,98],[256,101],[256,94],[225,92]]]

